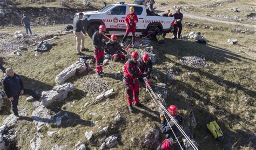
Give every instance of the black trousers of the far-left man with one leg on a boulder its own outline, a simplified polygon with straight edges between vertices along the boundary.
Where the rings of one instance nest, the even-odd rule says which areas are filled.
[[[40,99],[40,96],[37,93],[27,88],[24,88],[23,95],[32,96],[35,100]],[[18,114],[18,101],[19,101],[19,96],[14,97],[14,100],[11,101],[11,110],[14,112],[14,114]]]

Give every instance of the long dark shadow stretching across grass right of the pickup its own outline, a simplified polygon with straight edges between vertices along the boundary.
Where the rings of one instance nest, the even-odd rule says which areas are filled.
[[[199,54],[200,56],[205,56],[205,59],[207,61],[216,64],[221,62],[231,63],[231,61],[228,59],[234,59],[238,61],[245,59],[255,62],[255,60],[245,58],[226,49],[215,47],[209,44],[198,44],[190,40],[173,40],[170,38],[165,38],[165,44],[156,44],[155,42],[153,43],[154,48],[156,48],[157,50],[161,50],[158,51],[159,56],[163,56],[164,54],[171,54],[172,56],[176,56],[179,58],[183,56],[194,56],[195,54]],[[243,61],[246,62],[245,60]]]

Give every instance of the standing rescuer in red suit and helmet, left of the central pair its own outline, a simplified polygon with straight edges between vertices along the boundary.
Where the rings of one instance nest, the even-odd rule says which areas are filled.
[[[124,86],[126,89],[126,97],[128,101],[129,111],[132,113],[132,102],[135,101],[135,105],[142,107],[139,103],[139,83],[138,78],[145,77],[145,74],[139,72],[138,60],[139,54],[132,52],[131,59],[127,60],[124,64]]]

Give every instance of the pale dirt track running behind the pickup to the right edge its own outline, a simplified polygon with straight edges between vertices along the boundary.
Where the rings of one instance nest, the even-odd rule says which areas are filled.
[[[157,10],[158,11],[163,11],[163,10],[166,10],[166,9],[169,9],[169,8],[170,8],[170,5],[157,8]],[[240,25],[240,26],[245,26],[245,27],[250,27],[250,28],[255,28],[256,29],[256,25],[252,25],[252,24],[245,24],[245,23],[231,22],[231,21],[222,21],[222,20],[219,20],[219,19],[212,19],[212,18],[207,18],[207,17],[204,17],[204,16],[196,16],[196,15],[193,15],[191,13],[183,13],[183,16],[184,16],[184,18],[197,19],[198,21],[207,21],[207,22],[214,22],[214,23]]]

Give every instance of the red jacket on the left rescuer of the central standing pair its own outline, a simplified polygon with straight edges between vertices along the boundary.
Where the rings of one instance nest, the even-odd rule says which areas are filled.
[[[142,73],[139,72],[138,63],[133,63],[131,59],[124,64],[124,76],[129,79],[142,78]]]

